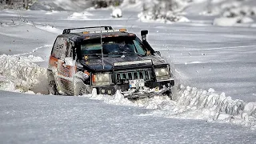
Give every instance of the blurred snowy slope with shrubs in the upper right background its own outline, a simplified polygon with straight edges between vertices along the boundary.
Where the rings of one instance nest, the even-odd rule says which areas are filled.
[[[146,3],[150,3],[146,4]],[[142,22],[190,22],[190,14],[216,16],[216,26],[256,26],[256,2],[253,0],[174,0],[144,2],[138,17]]]

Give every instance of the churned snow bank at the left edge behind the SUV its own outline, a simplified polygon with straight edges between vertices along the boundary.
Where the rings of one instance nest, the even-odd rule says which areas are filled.
[[[46,68],[33,62],[42,62],[33,55],[0,55],[0,90],[47,94]]]

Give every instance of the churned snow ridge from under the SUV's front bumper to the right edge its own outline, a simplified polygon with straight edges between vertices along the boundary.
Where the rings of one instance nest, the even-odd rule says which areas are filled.
[[[174,100],[166,96],[143,98],[130,101],[118,92],[114,96],[102,94],[86,94],[87,98],[102,100],[109,104],[136,106],[153,111],[141,116],[156,116],[167,118],[200,119],[208,122],[231,122],[256,129],[256,102],[232,100],[224,93],[216,94],[213,89],[198,90],[190,86],[178,86],[174,92]]]

